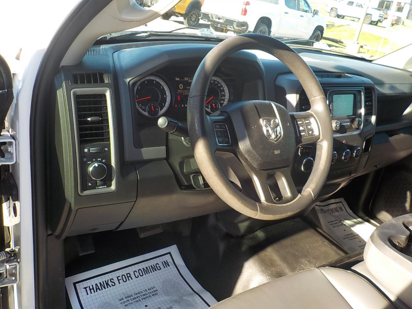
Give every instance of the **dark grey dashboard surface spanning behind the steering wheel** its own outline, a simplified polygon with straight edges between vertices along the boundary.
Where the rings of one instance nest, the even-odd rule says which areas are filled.
[[[61,171],[61,178],[56,181],[58,185],[53,193],[56,203],[51,216],[51,230],[54,234],[63,237],[159,224],[227,209],[228,206],[212,190],[193,190],[187,186],[190,179],[187,180],[186,176],[189,174],[183,175],[185,177],[180,174],[187,172],[187,160],[193,157],[190,144],[159,129],[156,117],[152,119],[138,112],[133,89],[136,81],[148,75],[161,77],[171,92],[171,103],[164,115],[185,121],[185,93],[179,92],[179,84],[183,81],[183,88],[190,87],[190,79],[197,66],[214,44],[139,42],[94,46],[82,63],[61,68],[55,82],[58,94],[55,135],[61,149],[56,149],[52,167]],[[368,156],[354,167],[354,176],[389,164],[411,152],[412,141],[408,131],[412,126],[410,72],[307,49],[295,50],[318,75],[322,86],[373,89],[373,121],[360,140],[356,140],[356,145],[361,145],[370,136],[375,136],[375,141]],[[73,74],[98,72],[105,76],[103,83],[73,83]],[[299,111],[300,84],[283,63],[270,55],[254,51],[236,52],[222,62],[215,76],[227,84],[228,104],[261,99],[277,101],[290,112]],[[80,196],[76,192],[78,149],[73,132],[77,128],[73,122],[75,102],[71,92],[98,88],[108,89],[111,96],[117,189],[115,192]],[[343,139],[340,138],[339,143]],[[398,147],[399,144],[401,146]],[[381,152],[386,156],[384,162],[379,161]],[[200,171],[192,164],[190,173]],[[334,192],[349,180],[335,181],[336,186],[328,192]],[[121,213],[120,206],[123,207]],[[87,222],[85,215],[93,220]]]

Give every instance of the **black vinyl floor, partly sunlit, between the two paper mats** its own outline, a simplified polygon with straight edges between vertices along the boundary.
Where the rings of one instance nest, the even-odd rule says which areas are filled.
[[[129,229],[93,238],[96,252],[80,257],[75,237],[66,239],[66,277],[176,244],[187,268],[218,301],[345,255],[299,218],[245,237],[225,233],[210,215],[194,218],[190,236],[163,232],[140,239]]]

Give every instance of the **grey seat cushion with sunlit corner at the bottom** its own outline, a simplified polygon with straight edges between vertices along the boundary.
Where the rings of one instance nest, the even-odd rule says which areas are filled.
[[[361,276],[337,268],[299,272],[229,297],[214,309],[393,308]]]

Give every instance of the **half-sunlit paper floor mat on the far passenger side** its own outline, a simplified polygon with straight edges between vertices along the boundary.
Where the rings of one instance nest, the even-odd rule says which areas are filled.
[[[351,253],[365,248],[375,230],[373,225],[355,215],[343,198],[318,202],[314,209],[322,229]]]

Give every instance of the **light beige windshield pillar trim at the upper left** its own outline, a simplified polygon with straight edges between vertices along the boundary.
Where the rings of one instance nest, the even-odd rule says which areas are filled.
[[[180,0],[162,0],[149,8],[142,8],[134,0],[113,0],[84,27],[68,49],[60,66],[82,61],[91,45],[102,35],[144,25],[178,4]]]

